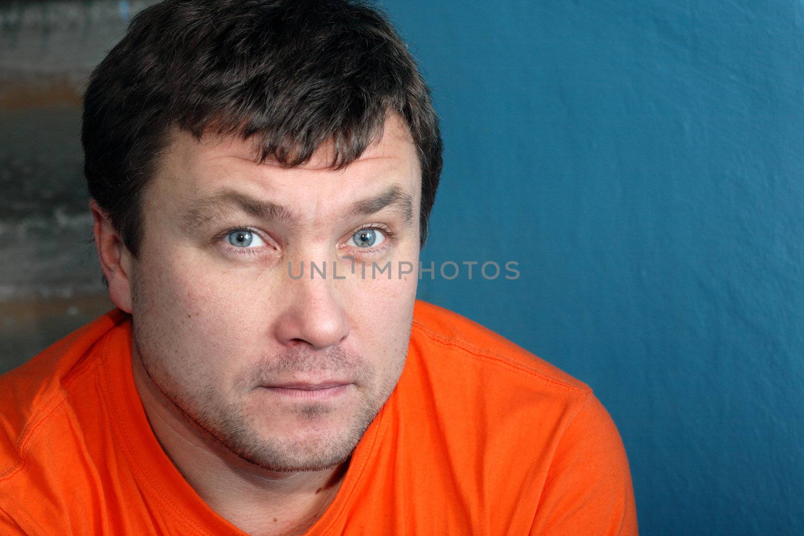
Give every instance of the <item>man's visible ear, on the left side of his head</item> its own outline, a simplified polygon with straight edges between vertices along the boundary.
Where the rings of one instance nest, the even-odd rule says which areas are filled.
[[[131,313],[131,278],[133,276],[133,257],[125,247],[120,235],[115,231],[112,220],[95,199],[90,200],[98,260],[106,280],[109,282],[109,298],[114,305]]]

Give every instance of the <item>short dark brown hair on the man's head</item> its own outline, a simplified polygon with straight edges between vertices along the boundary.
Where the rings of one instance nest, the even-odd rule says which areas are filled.
[[[259,162],[342,168],[403,117],[421,166],[420,245],[441,175],[429,88],[388,19],[354,0],[166,0],[142,10],[84,94],[89,193],[129,251],[172,128],[259,141]]]

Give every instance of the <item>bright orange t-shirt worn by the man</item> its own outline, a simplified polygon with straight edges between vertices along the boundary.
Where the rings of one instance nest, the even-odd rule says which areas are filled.
[[[116,309],[0,376],[0,534],[244,534],[158,444]],[[584,383],[416,301],[408,360],[307,534],[637,534]]]

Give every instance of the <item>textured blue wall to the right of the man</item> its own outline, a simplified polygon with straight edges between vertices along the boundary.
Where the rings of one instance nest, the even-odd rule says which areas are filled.
[[[420,297],[594,388],[642,534],[804,534],[802,2],[381,5],[443,120],[424,259],[521,272]]]

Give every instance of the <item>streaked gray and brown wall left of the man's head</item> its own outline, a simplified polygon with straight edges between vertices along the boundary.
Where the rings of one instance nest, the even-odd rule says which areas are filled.
[[[81,95],[152,3],[0,4],[0,373],[113,306],[89,242]]]

